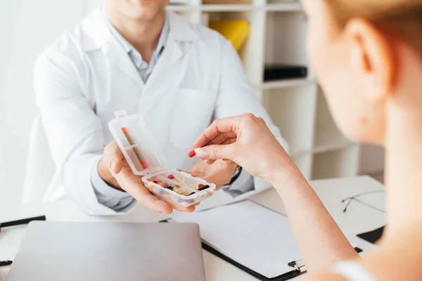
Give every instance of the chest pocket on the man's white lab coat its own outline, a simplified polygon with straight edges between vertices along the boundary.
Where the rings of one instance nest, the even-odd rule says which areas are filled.
[[[177,89],[172,98],[170,141],[177,148],[191,148],[196,138],[210,125],[215,93],[196,89]]]

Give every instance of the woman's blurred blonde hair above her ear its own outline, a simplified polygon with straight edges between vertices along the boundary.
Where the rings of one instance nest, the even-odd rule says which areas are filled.
[[[391,30],[422,55],[422,0],[326,1],[340,25],[351,18],[366,18]]]

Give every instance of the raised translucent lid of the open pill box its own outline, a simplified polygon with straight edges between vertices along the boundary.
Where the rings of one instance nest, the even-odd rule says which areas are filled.
[[[166,169],[167,160],[140,115],[117,111],[108,127],[134,174],[144,176]]]

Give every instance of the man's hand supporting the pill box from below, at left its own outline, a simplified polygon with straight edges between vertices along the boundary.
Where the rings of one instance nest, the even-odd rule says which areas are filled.
[[[195,205],[182,207],[149,192],[143,185],[142,177],[132,172],[115,141],[104,148],[103,159],[98,164],[98,174],[108,185],[128,192],[136,201],[154,211],[164,214],[171,214],[173,209],[188,213],[195,211]]]

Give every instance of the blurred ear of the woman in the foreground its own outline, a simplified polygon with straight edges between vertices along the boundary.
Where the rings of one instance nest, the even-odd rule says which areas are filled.
[[[350,65],[362,77],[364,96],[374,102],[385,100],[392,92],[397,67],[388,38],[371,22],[360,18],[347,22],[345,36],[351,43]]]

